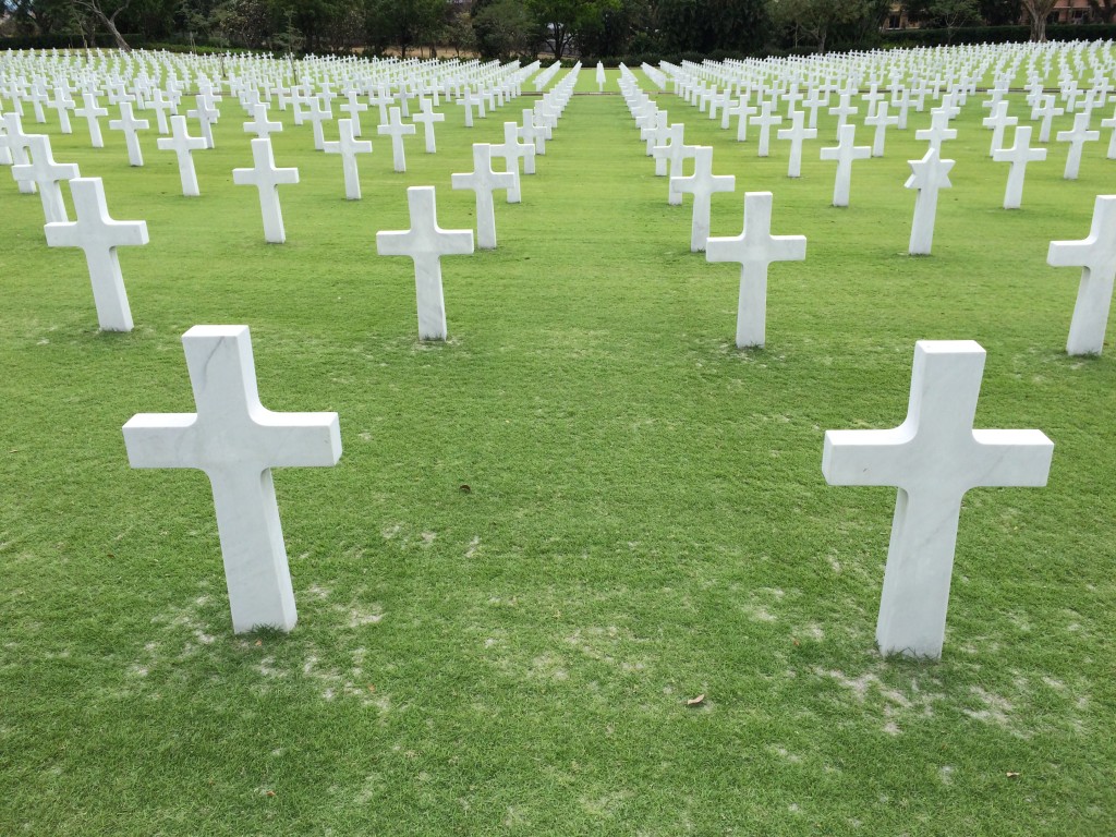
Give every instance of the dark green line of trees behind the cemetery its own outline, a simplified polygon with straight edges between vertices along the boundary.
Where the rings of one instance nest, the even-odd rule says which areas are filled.
[[[902,0],[911,21],[955,30],[1031,21],[1056,0]],[[1088,0],[1112,22],[1116,0]],[[0,0],[0,35],[75,46],[143,42],[275,51],[533,59],[761,55],[874,46],[891,0]],[[128,33],[128,35],[125,35]]]

